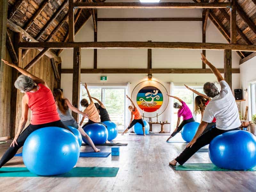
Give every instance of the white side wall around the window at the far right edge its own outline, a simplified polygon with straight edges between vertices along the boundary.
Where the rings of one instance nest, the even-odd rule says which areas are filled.
[[[240,85],[243,91],[243,99],[246,100],[241,102],[241,113],[243,114],[243,116],[245,113],[245,107],[249,106],[248,91],[246,92],[244,90],[245,89],[249,90],[248,89],[249,83],[254,80],[256,81],[255,71],[256,71],[256,57],[240,65]],[[249,112],[250,112],[250,106],[249,106]],[[248,118],[249,120],[251,120],[250,113],[248,114]]]

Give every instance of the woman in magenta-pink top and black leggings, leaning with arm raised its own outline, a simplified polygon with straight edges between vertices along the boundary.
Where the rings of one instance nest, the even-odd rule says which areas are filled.
[[[168,95],[168,96],[172,97],[174,99],[179,100],[181,105],[179,103],[173,103],[173,107],[179,109],[178,110],[178,121],[177,121],[176,129],[171,134],[171,136],[167,139],[167,141],[169,139],[171,139],[172,137],[174,137],[178,132],[180,132],[180,130],[182,129],[182,127],[185,124],[188,124],[190,122],[194,122],[195,121],[194,118],[193,118],[191,110],[188,108],[187,104],[183,100],[181,100],[179,97],[175,97],[175,96],[171,96],[171,95]],[[180,117],[181,116],[183,117],[183,121],[180,124]]]

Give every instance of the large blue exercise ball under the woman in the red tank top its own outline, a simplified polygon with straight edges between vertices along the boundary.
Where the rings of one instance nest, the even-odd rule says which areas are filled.
[[[45,127],[32,132],[22,149],[28,170],[42,176],[69,172],[76,165],[79,154],[75,135],[60,127]]]

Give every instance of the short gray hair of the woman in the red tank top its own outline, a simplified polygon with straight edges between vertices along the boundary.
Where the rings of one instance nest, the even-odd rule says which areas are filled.
[[[20,90],[20,92],[25,93],[31,91],[35,82],[28,76],[20,75],[14,83],[14,86]]]

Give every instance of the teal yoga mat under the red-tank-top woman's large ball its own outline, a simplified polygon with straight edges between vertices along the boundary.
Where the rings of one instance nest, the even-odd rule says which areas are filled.
[[[50,177],[116,177],[118,167],[75,167],[69,172]],[[0,177],[41,177],[27,167],[2,167]]]

